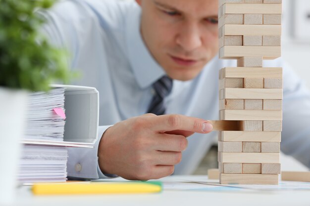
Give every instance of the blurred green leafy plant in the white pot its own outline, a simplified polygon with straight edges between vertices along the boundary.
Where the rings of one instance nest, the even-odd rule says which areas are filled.
[[[45,21],[35,10],[53,2],[0,0],[0,86],[38,91],[53,81],[69,81],[66,52],[39,33]]]

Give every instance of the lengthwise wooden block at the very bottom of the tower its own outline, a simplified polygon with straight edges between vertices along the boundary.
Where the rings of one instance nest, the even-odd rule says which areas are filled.
[[[220,174],[220,184],[263,184],[276,185],[278,174]]]

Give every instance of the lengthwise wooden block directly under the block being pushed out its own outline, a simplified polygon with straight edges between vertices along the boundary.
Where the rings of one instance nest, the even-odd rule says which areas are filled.
[[[220,131],[218,139],[225,142],[281,142],[281,132]]]

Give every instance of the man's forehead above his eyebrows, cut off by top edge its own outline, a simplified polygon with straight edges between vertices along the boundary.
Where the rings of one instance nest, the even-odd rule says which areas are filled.
[[[218,11],[218,0],[146,0],[155,5],[176,9],[184,14],[214,16]]]

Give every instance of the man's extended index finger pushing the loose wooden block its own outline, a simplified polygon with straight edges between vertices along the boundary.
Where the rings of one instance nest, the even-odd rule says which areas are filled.
[[[184,115],[160,115],[154,118],[153,127],[158,132],[172,130],[185,130],[198,133],[209,133],[212,131],[212,124],[206,120]]]

